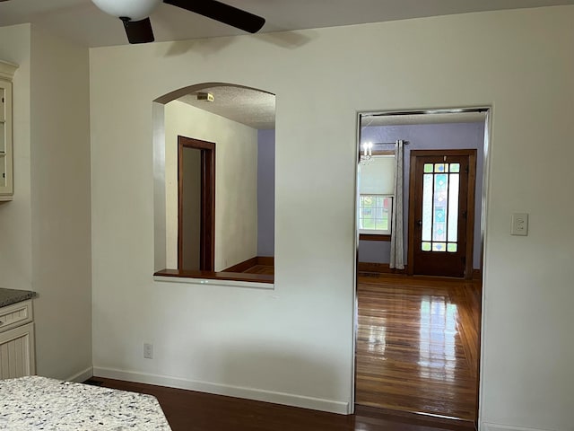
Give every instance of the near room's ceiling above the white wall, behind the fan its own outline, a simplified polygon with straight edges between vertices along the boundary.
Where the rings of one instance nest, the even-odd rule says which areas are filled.
[[[574,0],[227,0],[226,3],[265,17],[267,21],[261,32],[269,33],[574,4]],[[90,0],[0,1],[0,26],[23,22],[38,24],[87,47],[126,44],[121,22],[100,12]],[[161,4],[152,14],[152,26],[157,41],[242,34],[220,22],[169,4]]]

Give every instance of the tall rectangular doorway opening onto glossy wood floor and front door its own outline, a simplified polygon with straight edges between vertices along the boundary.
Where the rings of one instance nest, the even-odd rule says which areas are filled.
[[[359,411],[477,421],[488,115],[359,116]]]

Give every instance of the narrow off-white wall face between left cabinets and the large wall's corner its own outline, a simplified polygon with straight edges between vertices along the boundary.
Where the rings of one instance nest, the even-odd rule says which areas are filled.
[[[32,26],[32,286],[37,372],[91,369],[89,55]]]

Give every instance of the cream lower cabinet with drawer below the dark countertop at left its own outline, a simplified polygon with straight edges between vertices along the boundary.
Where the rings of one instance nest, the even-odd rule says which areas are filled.
[[[0,308],[0,379],[36,373],[31,301]]]

